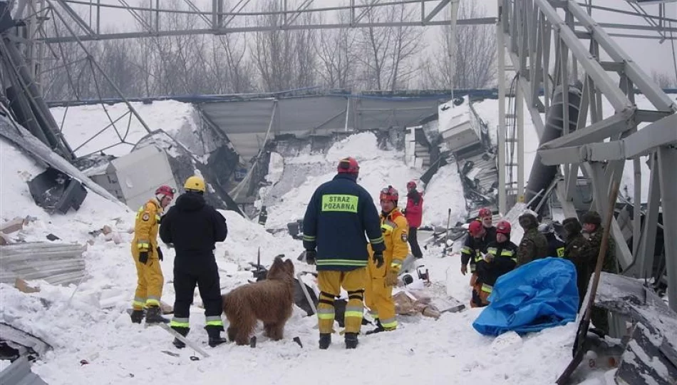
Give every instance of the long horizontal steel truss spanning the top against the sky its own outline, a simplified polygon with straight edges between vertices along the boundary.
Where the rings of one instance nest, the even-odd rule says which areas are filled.
[[[31,1],[31,0],[19,0]],[[253,9],[255,4],[252,0],[239,0],[234,6],[226,9],[224,0],[212,0],[211,9],[201,9],[193,0],[182,0],[187,9],[167,9],[162,8],[160,0],[148,0],[144,4],[148,6],[131,6],[128,0],[58,0],[58,3],[64,10],[73,16],[73,23],[80,27],[77,36],[53,36],[45,39],[48,42],[57,41],[80,41],[105,40],[105,39],[132,39],[144,38],[150,36],[177,36],[193,34],[234,34],[242,32],[256,31],[277,31],[277,30],[299,30],[299,29],[340,29],[340,28],[362,28],[362,27],[386,27],[386,26],[442,26],[450,24],[446,17],[454,4],[458,6],[458,0],[371,0],[367,4],[360,4],[358,0],[336,1],[336,6],[314,7],[314,0],[295,1],[297,6],[291,5],[291,0],[279,0],[279,11],[257,11]],[[164,5],[164,2],[162,2]],[[451,5],[450,5],[451,4]],[[420,18],[406,21],[385,21],[370,22],[366,17],[381,7],[392,6],[418,7],[420,9]],[[78,7],[80,10],[92,15],[89,21],[84,20],[73,9]],[[121,9],[128,13],[141,26],[141,31],[137,28],[127,26],[123,28],[134,31],[123,31],[115,34],[102,34],[101,31],[101,12],[111,9]],[[336,19],[336,12],[345,12],[348,18],[343,21]],[[200,22],[191,29],[185,30],[163,30],[160,27],[160,20],[167,14],[186,14],[197,16]],[[299,23],[301,16],[314,14],[321,20],[329,21],[327,23]],[[150,15],[150,19],[149,16]],[[145,17],[144,17],[145,16]],[[260,24],[257,21],[259,16],[279,16],[281,24],[270,25]],[[460,19],[456,23],[460,26],[470,24],[495,24],[495,17],[482,17],[476,19]]]

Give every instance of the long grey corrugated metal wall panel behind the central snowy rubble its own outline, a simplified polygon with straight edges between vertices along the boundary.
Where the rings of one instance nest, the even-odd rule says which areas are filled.
[[[416,125],[426,116],[437,113],[440,102],[429,98],[326,95],[219,101],[200,103],[197,107],[228,136],[237,153],[249,160],[263,145],[276,103],[271,138],[281,134],[306,138],[311,134],[343,132],[346,114],[348,128],[354,130]]]

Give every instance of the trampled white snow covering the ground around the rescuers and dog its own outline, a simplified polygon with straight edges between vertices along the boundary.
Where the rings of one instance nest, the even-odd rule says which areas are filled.
[[[158,108],[157,116],[167,113],[167,106]],[[150,108],[150,107],[149,107]],[[167,114],[168,116],[168,114]],[[182,118],[176,118],[181,120]],[[77,143],[84,135],[86,121],[77,122],[67,135]],[[165,129],[181,122],[167,121]],[[84,138],[80,138],[82,143]],[[101,139],[103,143],[103,138]],[[85,151],[86,152],[86,151]],[[131,324],[126,309],[130,307],[136,282],[136,272],[130,256],[127,232],[133,225],[134,213],[125,206],[89,193],[77,212],[48,215],[33,204],[26,180],[41,172],[31,159],[0,140],[0,217],[31,215],[20,235],[26,241],[42,241],[48,232],[63,242],[91,241],[85,252],[88,278],[79,286],[58,287],[46,282],[37,284],[41,291],[24,294],[11,285],[0,284],[0,322],[25,329],[53,345],[54,350],[33,365],[33,371],[48,384],[205,384],[244,381],[246,384],[551,384],[570,359],[576,325],[546,329],[518,336],[505,334],[498,338],[485,337],[472,329],[481,309],[466,309],[445,313],[440,319],[399,317],[395,332],[362,336],[355,351],[343,349],[342,338],[334,334],[334,344],[319,351],[315,317],[301,317],[296,309],[285,327],[285,338],[271,342],[261,336],[255,349],[224,344],[206,347],[205,319],[200,297],[195,293],[191,309],[189,339],[201,344],[211,354],[209,358],[191,361],[190,349],[172,347],[172,337],[160,328]],[[378,191],[388,184],[405,190],[410,179],[422,170],[408,167],[403,154],[394,150],[379,150],[376,137],[370,133],[352,135],[323,155],[301,155],[284,159],[285,164],[300,163],[335,170],[336,161],[354,156],[361,165],[359,183],[375,199]],[[279,165],[279,161],[276,163]],[[280,167],[273,168],[279,175]],[[277,173],[277,174],[276,174]],[[268,227],[284,227],[286,222],[302,217],[306,202],[315,188],[333,177],[335,172],[306,178],[296,188],[269,207]],[[271,175],[271,182],[275,177]],[[455,165],[445,166],[425,188],[424,221],[445,224],[448,208],[452,220],[462,217],[465,202],[460,180],[455,177]],[[421,187],[421,186],[419,186]],[[400,205],[405,200],[400,198]],[[223,212],[229,234],[217,244],[215,257],[221,275],[222,292],[244,284],[252,273],[246,268],[261,252],[264,265],[279,254],[294,261],[297,271],[312,271],[314,267],[296,261],[302,251],[301,242],[289,235],[272,235],[264,227],[245,220],[234,212]],[[271,224],[274,224],[272,226]],[[111,225],[121,242],[115,245],[103,236],[88,234]],[[162,300],[173,303],[172,265],[174,252],[162,246],[165,274]],[[467,303],[470,298],[468,276],[459,271],[458,255],[440,257],[439,247],[423,250],[423,263],[430,272],[433,285],[428,288],[435,299],[444,300],[446,293]],[[368,327],[366,327],[368,329]],[[338,330],[337,330],[338,332]],[[303,347],[292,342],[299,337]],[[170,356],[170,351],[179,356]],[[86,364],[81,364],[86,360]]]

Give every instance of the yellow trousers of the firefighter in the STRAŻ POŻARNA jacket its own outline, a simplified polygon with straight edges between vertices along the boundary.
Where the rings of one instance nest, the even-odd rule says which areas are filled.
[[[348,292],[346,304],[346,333],[359,333],[364,312],[364,287],[367,281],[366,267],[348,272],[321,270],[317,272],[320,289],[317,319],[321,334],[334,332],[334,299],[341,294],[341,287]]]

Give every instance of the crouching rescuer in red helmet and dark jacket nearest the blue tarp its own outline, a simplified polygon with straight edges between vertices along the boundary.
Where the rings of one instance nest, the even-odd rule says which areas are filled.
[[[487,298],[491,294],[496,280],[501,275],[510,272],[517,266],[517,245],[510,242],[510,222],[502,220],[496,225],[496,241],[487,245],[487,253],[478,257],[477,280],[475,292],[472,296],[474,307],[487,306]]]

